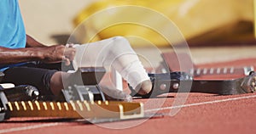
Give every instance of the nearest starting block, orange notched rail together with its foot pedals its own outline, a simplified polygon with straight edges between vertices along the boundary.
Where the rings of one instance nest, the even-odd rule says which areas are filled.
[[[102,79],[102,75],[105,72],[102,69],[97,69],[96,71],[89,70],[91,69],[79,70],[83,80],[85,78],[88,79],[87,76],[90,77],[90,81],[84,81],[84,86],[74,85],[68,90],[62,91],[63,98],[67,100],[66,102],[29,99],[9,101],[6,96],[9,92],[0,91],[0,121],[8,120],[11,117],[58,117],[85,119],[91,123],[99,123],[145,118],[143,103],[111,102],[106,100],[95,101],[96,94],[98,94],[101,99],[104,99],[100,88],[97,87],[96,80]],[[31,87],[26,89],[29,90],[22,91],[33,91],[34,94],[37,91],[35,90],[36,88]],[[74,91],[71,92],[72,90]],[[20,94],[24,95],[24,92]],[[30,97],[32,98],[32,96]]]

